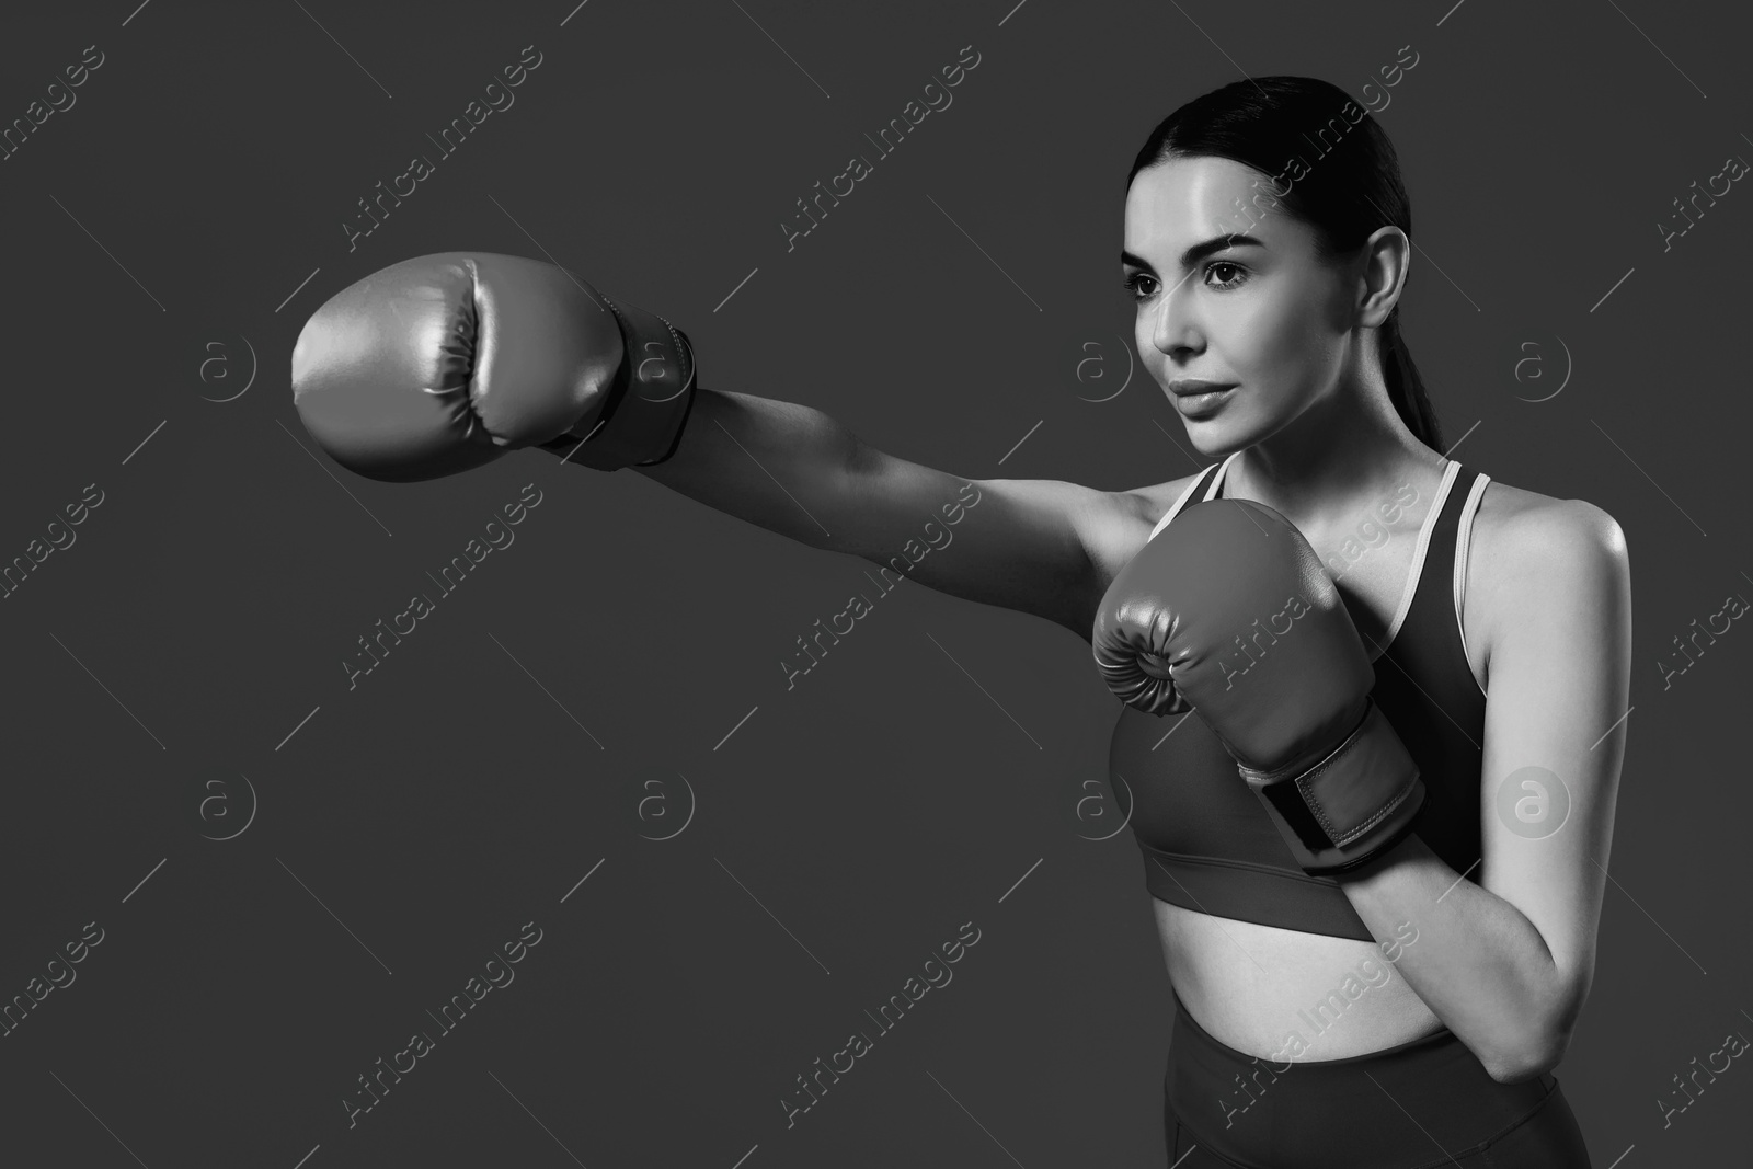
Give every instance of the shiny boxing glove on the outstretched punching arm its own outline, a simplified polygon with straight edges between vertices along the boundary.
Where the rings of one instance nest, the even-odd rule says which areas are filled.
[[[692,398],[680,329],[521,256],[393,265],[331,296],[293,347],[305,429],[342,466],[389,482],[519,447],[650,466],[675,452]]]

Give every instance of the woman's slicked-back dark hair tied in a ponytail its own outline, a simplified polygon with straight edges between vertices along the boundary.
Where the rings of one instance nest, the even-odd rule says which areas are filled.
[[[1364,244],[1381,226],[1413,233],[1413,205],[1394,144],[1369,112],[1315,77],[1252,77],[1194,98],[1157,123],[1138,152],[1132,179],[1171,158],[1229,158],[1266,174],[1255,205],[1283,209],[1315,228],[1322,259]],[[1381,324],[1381,375],[1406,428],[1443,450],[1436,410],[1401,338],[1401,308]]]

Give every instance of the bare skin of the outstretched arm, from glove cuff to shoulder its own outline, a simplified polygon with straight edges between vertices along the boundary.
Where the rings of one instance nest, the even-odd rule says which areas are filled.
[[[1111,526],[1117,496],[1057,480],[969,480],[884,454],[812,407],[696,394],[675,454],[636,471],[799,543],[906,566],[931,589],[1090,636],[1103,582],[1087,536]]]

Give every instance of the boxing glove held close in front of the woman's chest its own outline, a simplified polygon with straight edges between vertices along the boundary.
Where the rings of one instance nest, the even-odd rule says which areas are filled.
[[[1122,701],[1211,727],[1306,873],[1355,869],[1411,831],[1418,766],[1369,698],[1338,587],[1273,508],[1176,515],[1113,578],[1090,645]]]

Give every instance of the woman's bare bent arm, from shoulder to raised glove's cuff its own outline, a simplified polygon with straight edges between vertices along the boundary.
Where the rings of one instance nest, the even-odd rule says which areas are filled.
[[[1564,1059],[1595,971],[1630,701],[1630,563],[1611,515],[1518,517],[1494,589],[1476,882],[1416,836],[1339,883],[1371,932],[1409,920],[1401,973],[1501,1083]],[[1520,799],[1502,811],[1501,789]],[[1523,820],[1523,813],[1530,818]]]

